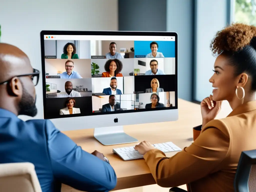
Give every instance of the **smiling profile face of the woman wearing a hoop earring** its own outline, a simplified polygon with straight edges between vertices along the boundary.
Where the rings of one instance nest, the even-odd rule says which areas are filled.
[[[214,63],[214,74],[209,79],[212,83],[212,99],[214,101],[232,100],[239,79],[234,76],[235,68],[229,65],[229,60],[219,55]]]

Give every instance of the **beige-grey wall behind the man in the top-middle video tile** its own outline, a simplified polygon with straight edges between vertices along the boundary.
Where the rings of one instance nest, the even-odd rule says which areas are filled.
[[[112,41],[101,41],[102,55],[106,55],[109,52],[109,44],[111,42],[116,43],[116,52],[120,52],[120,48],[126,48],[131,52],[131,47],[134,48],[134,41],[115,41],[114,39]]]

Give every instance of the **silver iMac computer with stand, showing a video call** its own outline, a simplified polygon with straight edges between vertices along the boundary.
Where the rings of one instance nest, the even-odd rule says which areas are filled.
[[[44,119],[94,128],[103,145],[138,142],[124,125],[178,119],[177,34],[41,31]]]

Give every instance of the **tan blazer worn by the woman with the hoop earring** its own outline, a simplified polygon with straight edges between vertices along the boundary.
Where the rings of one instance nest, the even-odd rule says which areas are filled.
[[[191,192],[233,192],[239,157],[256,149],[255,135],[256,101],[251,101],[207,123],[198,138],[173,157],[151,150],[144,159],[162,187],[189,184]]]

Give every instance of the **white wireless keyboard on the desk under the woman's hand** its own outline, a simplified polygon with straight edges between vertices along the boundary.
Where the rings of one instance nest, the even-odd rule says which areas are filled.
[[[172,151],[182,151],[177,145],[172,142],[166,143],[158,143],[153,144],[156,149],[163,151],[164,153],[172,152]],[[122,148],[113,148],[113,153],[116,153],[121,157],[124,161],[134,160],[134,159],[143,159],[143,155],[132,147],[122,147]]]

